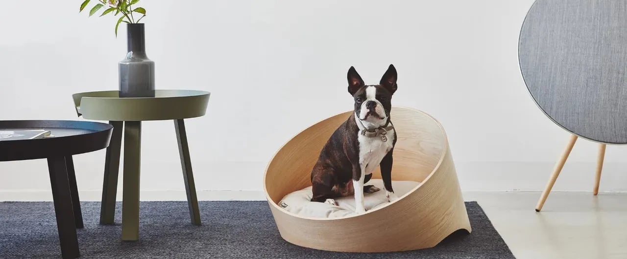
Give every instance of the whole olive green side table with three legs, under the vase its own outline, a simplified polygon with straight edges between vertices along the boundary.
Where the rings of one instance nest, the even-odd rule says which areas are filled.
[[[155,90],[154,97],[120,98],[119,91],[96,91],[73,94],[76,113],[85,119],[109,121],[113,125],[107,148],[100,207],[100,224],[113,224],[115,193],[120,167],[120,148],[124,129],[124,186],[122,187],[122,240],[139,240],[139,175],[142,121],[174,120],[176,138],[189,216],[201,225],[198,198],[194,186],[187,134],[183,119],[204,116],[209,92],[194,90]]]

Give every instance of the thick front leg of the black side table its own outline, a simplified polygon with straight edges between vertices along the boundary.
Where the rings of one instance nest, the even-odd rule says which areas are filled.
[[[56,226],[59,231],[61,255],[63,255],[63,258],[76,258],[80,256],[80,252],[78,251],[78,239],[76,238],[76,225],[65,157],[48,158],[48,172],[50,173],[52,196],[55,201]]]

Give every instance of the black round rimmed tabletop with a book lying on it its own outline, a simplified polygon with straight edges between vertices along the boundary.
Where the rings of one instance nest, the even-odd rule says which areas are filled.
[[[0,138],[0,161],[32,160],[76,155],[107,148],[113,126],[92,121],[0,121],[0,131],[45,130],[50,138]]]

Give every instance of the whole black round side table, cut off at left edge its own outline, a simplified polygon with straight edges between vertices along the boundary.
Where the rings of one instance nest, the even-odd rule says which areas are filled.
[[[113,126],[90,121],[0,121],[0,131],[50,130],[52,138],[0,140],[0,161],[47,159],[63,258],[80,256],[76,228],[83,228],[72,155],[107,148]]]

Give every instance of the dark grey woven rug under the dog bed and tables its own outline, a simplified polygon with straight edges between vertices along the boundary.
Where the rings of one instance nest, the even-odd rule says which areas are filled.
[[[99,202],[81,206],[82,258],[514,258],[476,202],[466,203],[472,234],[457,231],[435,248],[394,253],[292,245],[279,235],[266,201],[201,201],[203,226],[191,225],[186,201],[142,201],[135,242],[120,241],[121,203],[111,226],[98,225]],[[0,258],[61,258],[53,203],[0,203]]]

